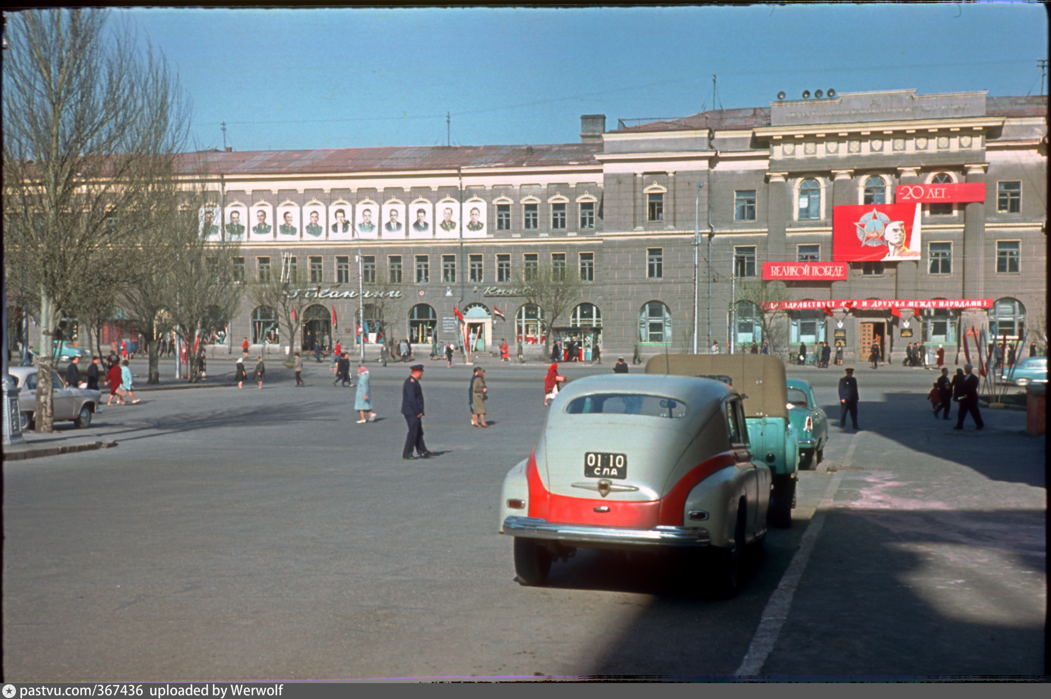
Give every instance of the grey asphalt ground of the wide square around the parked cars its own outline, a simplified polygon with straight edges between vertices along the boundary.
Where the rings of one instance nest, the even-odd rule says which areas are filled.
[[[719,600],[675,561],[600,552],[515,581],[496,506],[545,367],[490,363],[483,431],[470,369],[428,363],[438,456],[404,461],[407,368],[372,369],[380,419],[357,425],[324,366],[302,389],[271,363],[262,391],[144,392],[59,436],[118,448],[6,462],[5,680],[1044,672],[1045,440],[1021,412],[932,419],[933,372],[859,369],[862,431],[832,428],[794,527]],[[842,372],[790,373],[838,422]]]

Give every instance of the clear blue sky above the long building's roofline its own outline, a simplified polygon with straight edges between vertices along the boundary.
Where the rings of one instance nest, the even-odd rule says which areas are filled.
[[[580,115],[779,90],[1038,95],[1036,3],[117,11],[179,70],[195,147],[575,143]],[[717,94],[713,100],[713,74]],[[1047,94],[1047,81],[1044,84]]]

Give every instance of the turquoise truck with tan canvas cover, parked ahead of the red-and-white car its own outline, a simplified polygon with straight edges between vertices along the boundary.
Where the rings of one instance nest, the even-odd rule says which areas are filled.
[[[799,433],[788,420],[784,362],[769,354],[658,354],[647,374],[728,376],[741,394],[751,452],[770,467],[769,521],[791,527],[799,472]]]

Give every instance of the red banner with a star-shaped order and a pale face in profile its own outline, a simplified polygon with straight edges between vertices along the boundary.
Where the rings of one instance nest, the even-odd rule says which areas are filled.
[[[836,262],[919,260],[920,205],[832,207],[832,258]]]

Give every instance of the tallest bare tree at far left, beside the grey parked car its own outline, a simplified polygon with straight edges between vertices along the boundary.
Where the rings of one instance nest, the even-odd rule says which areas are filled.
[[[40,309],[44,374],[63,313],[126,272],[128,237],[157,172],[184,149],[188,107],[163,58],[99,9],[5,15],[4,264]],[[13,279],[14,275],[8,275]],[[50,382],[37,429],[53,430]]]

